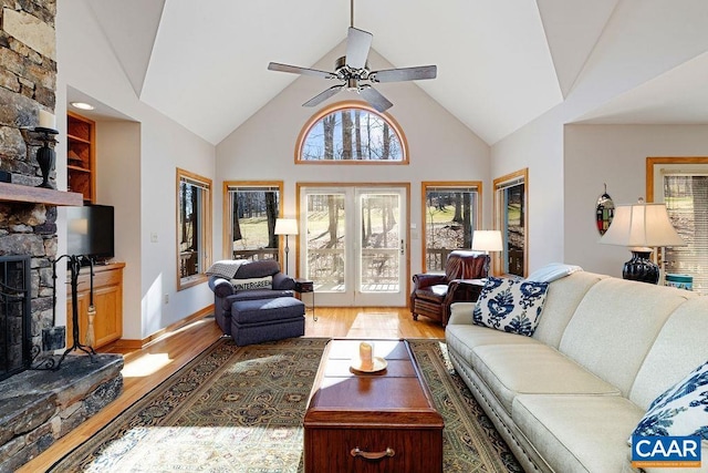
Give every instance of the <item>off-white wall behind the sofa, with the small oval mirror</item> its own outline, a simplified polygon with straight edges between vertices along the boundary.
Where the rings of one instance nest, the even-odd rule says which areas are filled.
[[[708,125],[566,125],[564,148],[565,260],[622,277],[629,251],[597,243],[603,183],[615,205],[646,197],[646,158],[708,155]]]

